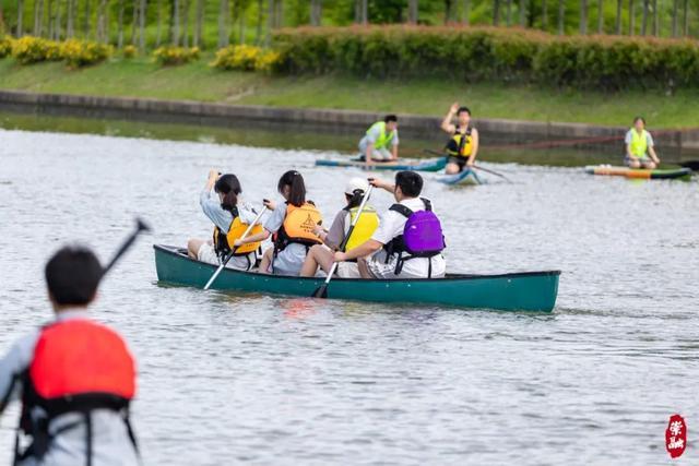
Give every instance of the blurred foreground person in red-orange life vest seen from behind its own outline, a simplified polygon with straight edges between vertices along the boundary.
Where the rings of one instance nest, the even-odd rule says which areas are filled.
[[[128,417],[135,363],[123,339],[87,314],[103,268],[92,251],[67,247],[45,274],[55,320],[0,360],[0,414],[22,401],[15,464],[137,465]]]

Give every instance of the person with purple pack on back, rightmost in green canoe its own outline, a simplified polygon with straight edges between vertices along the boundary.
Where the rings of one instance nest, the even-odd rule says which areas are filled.
[[[380,179],[369,182],[392,193],[396,203],[381,216],[369,240],[347,252],[335,252],[335,261],[357,260],[363,278],[443,277],[445,237],[431,202],[419,196],[423,178],[415,171],[399,171],[395,183]],[[368,256],[371,259],[365,259]]]

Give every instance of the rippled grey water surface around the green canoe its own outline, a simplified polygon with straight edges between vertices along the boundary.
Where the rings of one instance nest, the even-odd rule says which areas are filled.
[[[303,171],[328,217],[358,171],[331,152],[0,130],[0,350],[46,321],[43,266],[68,239],[103,260],[154,227],[94,314],[139,359],[146,464],[670,464],[664,429],[699,432],[699,186],[490,165],[517,180],[431,182],[452,271],[560,268],[552,314],[227,296],[159,286],[153,242],[210,225],[206,171],[247,199]],[[375,196],[378,207],[388,193]],[[0,420],[9,462],[16,408]]]

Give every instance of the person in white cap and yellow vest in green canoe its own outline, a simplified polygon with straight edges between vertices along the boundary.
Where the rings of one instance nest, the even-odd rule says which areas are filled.
[[[329,273],[332,264],[335,262],[334,252],[339,250],[345,235],[350,230],[352,220],[355,219],[359,204],[364,199],[364,194],[369,189],[369,183],[364,178],[353,178],[345,187],[345,201],[347,205],[335,215],[335,219],[330,230],[324,230],[321,226],[317,226],[315,232],[323,241],[323,244],[313,246],[308,255],[300,275],[303,277],[316,276],[318,267]],[[379,226],[379,216],[376,210],[370,205],[365,205],[362,215],[352,230],[352,236],[347,240],[345,251],[351,251],[357,246],[364,243],[371,238],[371,235]],[[359,278],[359,268],[356,261],[342,262],[337,265],[336,275],[341,278]]]

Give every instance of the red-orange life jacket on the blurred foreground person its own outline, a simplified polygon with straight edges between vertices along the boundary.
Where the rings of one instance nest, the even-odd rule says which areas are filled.
[[[135,447],[128,420],[128,407],[135,395],[135,363],[123,339],[105,325],[86,319],[72,319],[45,326],[24,375],[21,429],[31,434],[33,445],[25,452],[40,459],[50,445],[49,421],[62,414],[81,413],[87,425],[87,463],[91,463],[93,409],[122,413]],[[34,407],[42,407],[47,419],[34,419]],[[19,445],[17,445],[19,449]],[[19,451],[17,457],[22,457]]]

